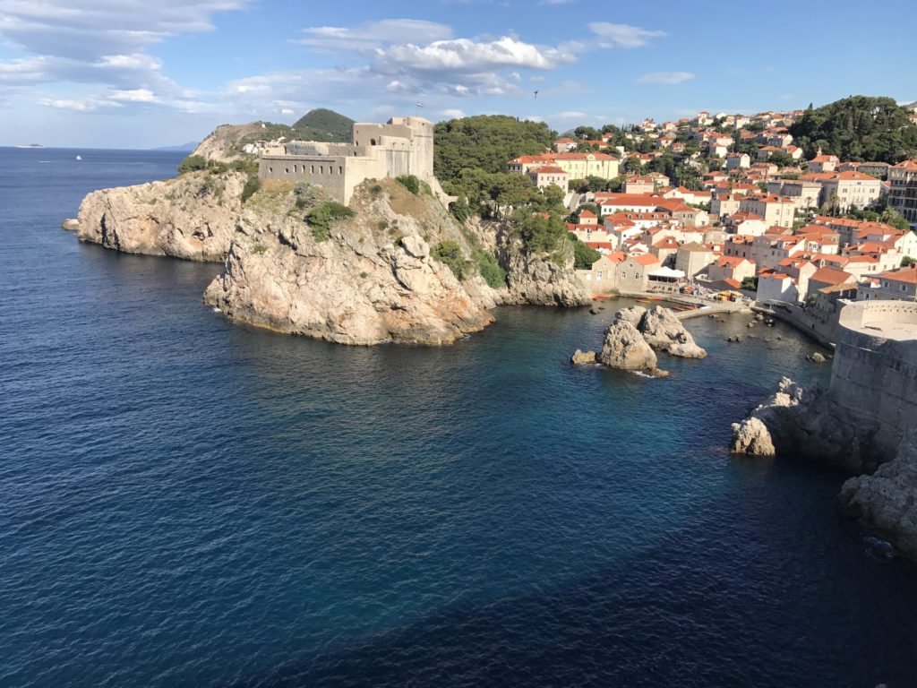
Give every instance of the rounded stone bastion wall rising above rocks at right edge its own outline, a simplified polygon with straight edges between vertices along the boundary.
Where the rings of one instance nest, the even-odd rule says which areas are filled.
[[[831,397],[900,438],[917,418],[917,303],[846,305],[836,343]]]

